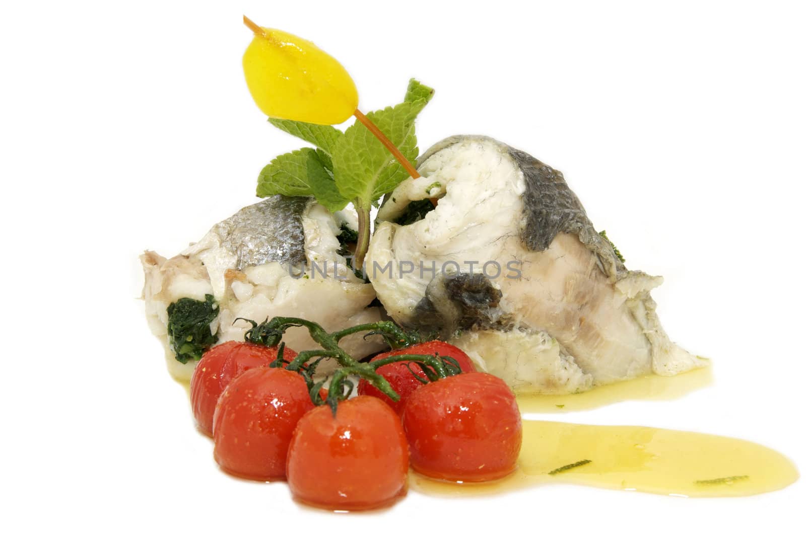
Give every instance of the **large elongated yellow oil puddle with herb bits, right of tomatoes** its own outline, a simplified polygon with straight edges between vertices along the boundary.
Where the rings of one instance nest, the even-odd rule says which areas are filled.
[[[798,479],[783,454],[754,442],[704,433],[627,425],[524,421],[517,471],[491,483],[444,483],[413,474],[415,491],[447,496],[489,494],[573,483],[670,496],[750,496]],[[549,472],[575,462],[581,466]]]

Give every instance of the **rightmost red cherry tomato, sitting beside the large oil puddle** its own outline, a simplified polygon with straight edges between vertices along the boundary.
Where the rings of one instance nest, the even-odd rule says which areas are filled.
[[[521,413],[507,384],[488,373],[454,375],[409,397],[403,428],[414,470],[436,479],[489,481],[515,469]]]

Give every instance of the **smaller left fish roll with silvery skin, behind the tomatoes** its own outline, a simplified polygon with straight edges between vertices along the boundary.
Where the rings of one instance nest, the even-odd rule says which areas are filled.
[[[356,277],[339,255],[343,225],[355,230],[355,214],[330,214],[309,197],[276,195],[219,222],[180,255],[141,255],[148,324],[164,342],[171,374],[189,380],[196,365],[193,359],[179,362],[168,339],[168,305],[182,297],[214,297],[218,317],[210,330],[218,334],[218,343],[243,340],[249,325],[235,322],[238,317],[258,322],[274,316],[303,317],[326,330],[379,321],[380,308],[368,308],[375,299],[372,285]],[[314,262],[320,271],[308,269],[306,276],[299,276],[295,270]],[[372,338],[379,337],[364,340],[353,335],[341,345],[362,357],[384,349],[382,341]],[[283,340],[297,351],[318,348],[302,328],[289,329]],[[322,363],[320,370],[326,369]]]

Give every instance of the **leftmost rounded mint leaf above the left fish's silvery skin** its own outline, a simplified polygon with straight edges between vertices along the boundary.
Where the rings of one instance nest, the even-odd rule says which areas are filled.
[[[270,195],[306,196],[313,195],[310,176],[327,173],[325,166],[312,148],[286,152],[277,156],[263,168],[257,178],[257,196]]]

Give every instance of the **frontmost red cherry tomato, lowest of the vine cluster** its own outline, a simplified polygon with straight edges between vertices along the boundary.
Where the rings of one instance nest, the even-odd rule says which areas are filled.
[[[286,473],[293,496],[328,509],[368,509],[406,491],[409,449],[400,418],[376,397],[322,405],[294,429]]]

